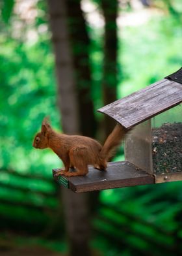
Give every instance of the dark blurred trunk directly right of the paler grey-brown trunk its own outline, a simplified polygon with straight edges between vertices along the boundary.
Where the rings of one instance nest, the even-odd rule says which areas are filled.
[[[85,17],[81,10],[81,0],[67,0],[66,3],[78,93],[80,131],[85,136],[94,137],[96,134],[96,119],[91,96],[90,39],[86,30]]]

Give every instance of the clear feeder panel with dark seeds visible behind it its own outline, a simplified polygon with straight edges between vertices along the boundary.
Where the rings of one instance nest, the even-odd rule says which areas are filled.
[[[154,174],[182,173],[182,104],[152,118],[151,139]]]

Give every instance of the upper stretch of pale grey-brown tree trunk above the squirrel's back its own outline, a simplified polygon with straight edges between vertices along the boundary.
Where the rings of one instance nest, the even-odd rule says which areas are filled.
[[[49,20],[55,52],[58,104],[65,133],[79,133],[79,111],[76,97],[73,56],[70,50],[66,1],[48,0]]]

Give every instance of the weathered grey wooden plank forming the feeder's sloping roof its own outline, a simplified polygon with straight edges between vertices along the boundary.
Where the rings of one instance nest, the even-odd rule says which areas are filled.
[[[123,127],[130,129],[181,102],[181,84],[163,79],[114,101],[98,111],[107,114]]]

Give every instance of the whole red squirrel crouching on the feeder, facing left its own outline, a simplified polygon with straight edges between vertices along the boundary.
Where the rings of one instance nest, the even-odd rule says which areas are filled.
[[[32,146],[40,149],[51,148],[60,157],[64,170],[60,170],[57,175],[85,176],[88,165],[93,165],[98,170],[106,170],[109,157],[126,133],[127,129],[118,123],[101,146],[97,140],[87,136],[57,133],[44,118],[42,129],[34,137]],[[70,168],[75,168],[76,172],[69,172]]]

